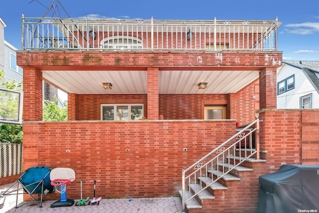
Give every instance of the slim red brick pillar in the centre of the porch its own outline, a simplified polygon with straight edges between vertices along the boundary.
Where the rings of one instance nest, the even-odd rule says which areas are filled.
[[[159,68],[148,67],[148,119],[159,119]]]

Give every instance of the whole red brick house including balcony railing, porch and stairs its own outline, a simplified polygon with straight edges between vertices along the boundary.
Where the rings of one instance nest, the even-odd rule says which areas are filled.
[[[103,198],[182,191],[188,212],[257,212],[259,176],[318,164],[319,111],[277,109],[277,19],[22,18],[24,169],[72,168]],[[43,80],[68,93],[68,121],[42,121]],[[242,152],[237,122],[253,122]]]

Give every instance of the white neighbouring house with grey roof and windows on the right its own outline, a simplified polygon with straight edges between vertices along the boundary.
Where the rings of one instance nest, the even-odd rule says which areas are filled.
[[[277,71],[277,108],[319,109],[319,61],[283,61]]]

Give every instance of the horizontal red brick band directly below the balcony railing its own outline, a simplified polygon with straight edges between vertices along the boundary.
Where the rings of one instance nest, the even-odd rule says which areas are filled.
[[[198,60],[198,56],[201,60]],[[281,52],[23,52],[17,51],[17,63],[23,67],[52,70],[146,70],[147,67],[183,67],[184,70],[261,70],[281,65]],[[208,67],[207,67],[208,66]],[[226,67],[224,67],[226,66]],[[275,75],[276,77],[276,75]]]

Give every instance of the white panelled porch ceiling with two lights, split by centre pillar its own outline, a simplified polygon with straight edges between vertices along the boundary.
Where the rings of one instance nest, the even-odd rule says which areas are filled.
[[[42,70],[43,79],[59,89],[75,94],[147,94],[147,71],[52,71]],[[247,71],[159,71],[160,94],[236,93],[259,78],[258,70]],[[102,83],[110,82],[112,89]],[[207,82],[206,89],[198,89]]]

